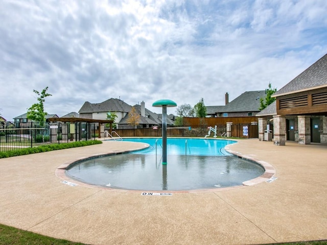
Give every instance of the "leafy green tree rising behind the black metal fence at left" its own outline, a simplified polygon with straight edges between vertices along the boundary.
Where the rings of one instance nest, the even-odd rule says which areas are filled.
[[[48,87],[45,87],[41,93],[37,90],[33,90],[34,93],[38,95],[37,101],[38,103],[33,104],[27,111],[27,118],[31,120],[35,120],[38,122],[44,122],[45,121],[45,115],[46,113],[44,111],[44,102],[45,97],[52,96],[52,94],[47,93],[46,90],[48,90]]]

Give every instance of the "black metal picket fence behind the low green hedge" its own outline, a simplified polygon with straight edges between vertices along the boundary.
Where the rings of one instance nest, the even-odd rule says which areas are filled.
[[[41,145],[91,140],[99,124],[87,122],[0,122],[0,152]]]

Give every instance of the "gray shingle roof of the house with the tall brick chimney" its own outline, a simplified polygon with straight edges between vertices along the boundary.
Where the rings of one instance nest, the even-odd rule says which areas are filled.
[[[246,91],[238,96],[235,100],[232,100],[225,106],[210,106],[207,108],[210,114],[224,113],[224,112],[255,112],[260,111],[260,98],[266,97],[265,90]],[[215,112],[214,112],[215,111]]]

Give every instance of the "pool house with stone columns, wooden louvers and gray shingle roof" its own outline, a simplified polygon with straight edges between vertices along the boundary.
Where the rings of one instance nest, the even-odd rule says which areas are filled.
[[[275,145],[327,143],[327,54],[272,97],[276,103],[258,114],[259,134],[272,117]]]

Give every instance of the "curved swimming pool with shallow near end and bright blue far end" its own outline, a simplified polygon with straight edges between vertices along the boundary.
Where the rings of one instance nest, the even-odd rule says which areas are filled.
[[[160,142],[156,138],[124,140],[145,142],[150,146],[142,151],[78,162],[67,168],[66,174],[102,187],[160,191],[242,185],[242,182],[264,173],[259,164],[230,156],[221,150],[224,145],[235,142],[231,140],[178,139],[181,143],[168,138],[167,165],[161,164]]]

